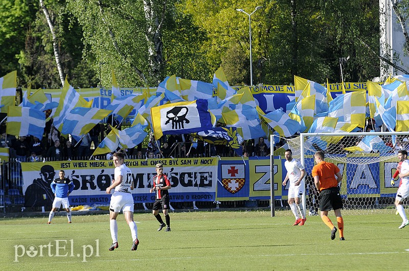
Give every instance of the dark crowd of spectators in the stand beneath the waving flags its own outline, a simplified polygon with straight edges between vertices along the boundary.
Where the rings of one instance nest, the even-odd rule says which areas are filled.
[[[0,147],[9,148],[10,160],[20,162],[88,160],[101,140],[110,132],[105,124],[98,124],[77,142],[74,137],[62,136],[54,128],[52,119],[47,122],[42,138],[35,136],[13,136],[0,127]],[[268,139],[250,139],[242,142],[243,156],[269,156]],[[282,145],[280,142],[278,145]],[[132,149],[124,150],[128,159],[146,158],[190,158],[190,157],[234,157],[237,153],[229,145],[218,145],[195,139],[190,135],[164,135],[155,140],[150,133],[144,142]],[[110,159],[98,155],[97,159]]]

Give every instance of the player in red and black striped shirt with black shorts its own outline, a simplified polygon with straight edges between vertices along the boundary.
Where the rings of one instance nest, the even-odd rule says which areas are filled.
[[[152,207],[152,214],[156,217],[157,221],[161,224],[157,231],[161,231],[163,228],[165,231],[170,232],[170,217],[169,210],[169,189],[171,188],[170,181],[166,175],[163,174],[163,165],[156,164],[156,176],[153,177],[153,186],[150,192],[155,192],[155,203]],[[162,216],[159,214],[159,210],[162,208],[165,215],[166,224],[164,223]]]

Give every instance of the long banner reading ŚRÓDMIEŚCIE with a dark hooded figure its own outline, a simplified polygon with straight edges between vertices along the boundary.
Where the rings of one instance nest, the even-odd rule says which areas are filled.
[[[125,160],[132,171],[135,203],[154,201],[152,187],[156,163],[164,165],[172,188],[171,202],[214,201],[216,194],[217,158]],[[50,184],[58,178],[59,170],[74,183],[71,205],[109,204],[111,195],[105,189],[114,173],[112,161],[60,161],[21,163],[25,206],[48,206],[54,200]],[[111,192],[112,193],[112,192]]]

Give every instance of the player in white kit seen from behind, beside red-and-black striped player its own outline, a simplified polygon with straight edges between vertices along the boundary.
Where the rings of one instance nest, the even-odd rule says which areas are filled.
[[[122,210],[132,234],[132,248],[138,249],[138,228],[133,221],[133,198],[131,190],[133,190],[132,173],[129,167],[124,164],[124,154],[117,152],[112,155],[113,164],[115,165],[115,180],[106,188],[106,193],[109,194],[113,188],[115,191],[111,196],[109,204],[109,229],[111,231],[112,245],[110,251],[118,248],[118,225],[117,216]]]

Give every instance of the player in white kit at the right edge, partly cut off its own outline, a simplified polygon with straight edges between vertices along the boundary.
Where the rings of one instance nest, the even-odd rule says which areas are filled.
[[[407,160],[407,152],[400,150],[398,152],[399,161],[402,161],[399,178],[402,178],[402,184],[399,186],[396,192],[395,206],[400,217],[402,217],[402,225],[399,229],[403,229],[409,225],[409,221],[406,218],[405,209],[403,209],[403,200],[409,196],[409,160]]]

